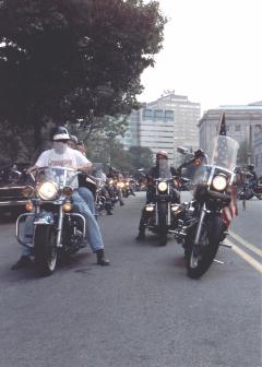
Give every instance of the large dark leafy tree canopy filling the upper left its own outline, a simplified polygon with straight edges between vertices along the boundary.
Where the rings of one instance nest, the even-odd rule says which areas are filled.
[[[33,129],[38,146],[44,121],[95,131],[130,114],[165,22],[158,1],[1,1],[0,119]]]

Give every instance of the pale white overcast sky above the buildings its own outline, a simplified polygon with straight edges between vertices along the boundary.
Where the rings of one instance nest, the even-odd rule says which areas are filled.
[[[159,0],[168,17],[155,67],[142,74],[141,102],[165,90],[219,105],[262,100],[262,0]]]

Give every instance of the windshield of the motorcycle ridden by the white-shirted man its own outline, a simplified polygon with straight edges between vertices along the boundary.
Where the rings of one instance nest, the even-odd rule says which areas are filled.
[[[76,179],[76,183],[75,183]],[[58,185],[58,188],[70,186],[78,187],[78,177],[72,168],[68,167],[45,167],[38,171],[37,182],[52,181]]]

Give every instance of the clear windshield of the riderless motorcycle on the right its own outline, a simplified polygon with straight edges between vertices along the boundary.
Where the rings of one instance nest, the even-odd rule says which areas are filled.
[[[219,135],[211,144],[211,165],[234,170],[237,165],[238,149],[239,143],[236,140]]]

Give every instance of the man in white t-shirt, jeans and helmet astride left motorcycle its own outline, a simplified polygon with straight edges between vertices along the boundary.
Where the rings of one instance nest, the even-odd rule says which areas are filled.
[[[39,167],[69,167],[74,170],[88,170],[92,165],[91,162],[79,151],[69,147],[67,144],[68,140],[68,130],[63,127],[56,128],[56,131],[52,134],[53,149],[43,152],[36,164],[31,167],[28,171]],[[74,192],[72,194],[74,209],[86,220],[86,240],[90,242],[92,250],[97,254],[97,263],[100,265],[108,265],[109,260],[105,257],[104,244],[97,221],[92,214],[86,202],[76,191],[79,187],[78,177],[72,182],[72,187],[74,188]],[[32,240],[33,235],[34,223],[32,217],[28,217],[28,221],[25,224],[25,240],[26,238],[27,241],[28,239]],[[12,269],[16,270],[29,265],[32,262],[31,254],[31,249],[28,247],[24,247],[21,259],[12,267]]]

